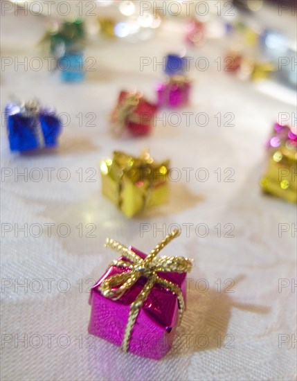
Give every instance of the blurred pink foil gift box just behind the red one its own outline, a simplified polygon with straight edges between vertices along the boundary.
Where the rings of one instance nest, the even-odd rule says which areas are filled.
[[[167,82],[157,86],[158,106],[178,108],[188,105],[190,98],[190,81],[182,76],[171,77]]]

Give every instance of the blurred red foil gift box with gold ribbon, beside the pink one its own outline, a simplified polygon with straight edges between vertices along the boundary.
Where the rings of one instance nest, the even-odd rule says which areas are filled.
[[[118,103],[111,114],[114,134],[120,135],[125,130],[133,136],[150,133],[156,105],[148,102],[141,92],[120,91]]]

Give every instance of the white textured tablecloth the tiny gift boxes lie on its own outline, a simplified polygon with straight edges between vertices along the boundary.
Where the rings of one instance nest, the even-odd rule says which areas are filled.
[[[46,19],[12,14],[2,21],[3,56],[14,60],[28,56],[30,60],[39,55],[36,43]],[[137,86],[154,99],[154,85],[162,73],[152,67],[140,71],[140,57],[155,56],[160,61],[168,49],[179,51],[182,46],[179,24],[172,20],[145,44],[94,40],[87,48],[87,56],[96,57],[96,71],[87,73],[82,84],[61,83],[45,68],[15,71],[10,66],[3,71],[1,110],[10,94],[21,99],[37,96],[43,104],[68,113],[71,122],[64,127],[57,152],[42,155],[10,153],[3,123],[1,126],[1,166],[11,168],[13,173],[1,181],[2,228],[12,227],[12,231],[2,231],[1,278],[7,286],[1,293],[2,380],[296,378],[296,290],[291,288],[294,278],[296,282],[296,238],[292,234],[296,207],[262,195],[258,186],[266,165],[264,142],[278,113],[294,112],[294,92],[273,87],[269,82],[240,82],[217,72],[213,64],[204,72],[192,69],[192,105],[182,110],[206,112],[208,125],[187,126],[182,116],[177,127],[168,123],[163,127],[159,121],[152,136],[143,139],[117,141],[109,134],[108,116],[120,89]],[[189,54],[213,60],[223,51],[222,44],[210,42]],[[270,96],[260,91],[271,86]],[[287,103],[279,100],[282,95],[287,97]],[[96,127],[80,127],[76,117],[80,112],[84,123],[90,120],[86,113],[95,113]],[[232,112],[235,126],[218,127],[214,117],[218,112]],[[150,148],[156,159],[170,158],[172,167],[178,168],[182,177],[171,182],[168,205],[127,220],[100,195],[98,163],[115,149],[138,154],[143,147]],[[53,178],[47,181],[44,168],[50,167],[54,168]],[[209,179],[197,181],[193,170],[187,181],[182,168],[190,167],[206,168]],[[25,168],[33,176],[37,172],[30,170],[41,168],[44,178],[35,182],[19,177],[15,181],[16,171]],[[57,179],[60,168],[69,170],[69,181]],[[83,181],[79,179],[79,168]],[[87,176],[94,174],[94,170],[86,172],[87,168],[95,168],[91,177],[94,182],[86,181]],[[222,168],[222,179],[226,176],[224,169],[233,168],[235,181],[217,181],[217,168]],[[51,237],[45,225],[48,223],[54,224]],[[192,257],[196,265],[189,276],[192,281],[188,308],[174,348],[159,362],[121,353],[119,348],[98,338],[92,342],[87,333],[89,287],[116,256],[103,247],[105,237],[133,244],[143,251],[149,251],[163,238],[162,231],[154,235],[153,227],[141,237],[141,223],[156,224],[157,228],[172,223],[194,224],[188,225],[189,236],[186,226],[181,225],[181,237],[163,251]],[[221,238],[214,228],[219,223]],[[234,238],[224,238],[227,223],[234,225]],[[280,223],[289,227],[282,238],[278,236]],[[15,224],[28,224],[27,238],[22,232],[15,237]],[[42,226],[42,236],[33,237],[37,230],[30,234],[33,224]],[[59,224],[71,228],[68,237],[61,237],[64,231],[57,231]],[[83,227],[82,237],[79,228],[75,228],[79,224]],[[86,229],[86,224],[96,225],[95,237],[86,236],[93,226]],[[205,238],[195,233],[197,224],[209,227]],[[204,233],[203,229],[199,233]],[[54,279],[50,292],[46,278]],[[15,289],[17,282],[24,283],[26,279],[28,290]],[[33,279],[41,282],[40,292],[34,292],[40,283],[32,283]],[[67,279],[69,292],[61,292],[67,286],[62,279]],[[208,283],[206,292],[202,292],[205,281],[197,283],[201,279]],[[281,290],[280,279],[288,280],[283,281],[287,287]],[[200,291],[195,289],[195,283]],[[233,292],[224,292],[228,285]],[[51,346],[45,336],[49,334],[53,335]],[[17,342],[24,335],[27,347]],[[203,348],[205,339],[208,344]],[[280,343],[280,339],[284,342]]]

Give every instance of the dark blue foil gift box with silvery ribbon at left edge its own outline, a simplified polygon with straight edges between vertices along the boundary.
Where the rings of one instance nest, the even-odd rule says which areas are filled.
[[[62,124],[53,108],[40,108],[35,100],[23,105],[10,103],[5,115],[10,150],[22,152],[57,146]]]

